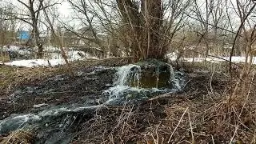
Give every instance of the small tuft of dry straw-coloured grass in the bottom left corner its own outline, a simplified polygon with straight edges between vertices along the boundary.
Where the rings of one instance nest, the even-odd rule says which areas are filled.
[[[0,137],[0,144],[31,144],[33,142],[34,135],[25,130],[15,130],[9,135]]]

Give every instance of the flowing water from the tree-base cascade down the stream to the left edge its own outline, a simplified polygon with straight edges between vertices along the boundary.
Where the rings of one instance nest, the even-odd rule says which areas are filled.
[[[33,114],[13,114],[9,118],[1,120],[0,134],[6,134],[12,130],[34,129],[36,127],[36,130],[39,131],[37,135],[39,139],[38,143],[69,143],[71,136],[67,129],[73,124],[78,114],[92,113],[102,106],[138,104],[158,94],[182,90],[183,78],[180,76],[182,74],[174,74],[174,70],[172,69],[170,73],[170,82],[174,84],[172,88],[158,89],[157,85],[155,88],[145,89],[140,87],[140,66],[128,65],[118,67],[116,74],[114,74],[113,86],[108,86],[109,88],[102,91],[101,96],[103,102],[101,104],[93,105],[87,103],[82,105],[73,103],[65,106],[36,105],[34,107],[46,106],[46,108],[42,108],[42,110],[40,109],[41,111]],[[99,72],[90,72],[85,75],[93,74],[101,74],[101,72],[99,70]],[[63,79],[58,78],[58,81],[62,81]],[[88,81],[88,78],[86,80]],[[92,78],[92,80],[94,79]],[[133,85],[130,86],[130,83],[133,83]],[[33,89],[30,88],[28,93],[37,94],[34,93],[34,90],[37,89],[38,86]],[[23,93],[21,92],[21,94]]]

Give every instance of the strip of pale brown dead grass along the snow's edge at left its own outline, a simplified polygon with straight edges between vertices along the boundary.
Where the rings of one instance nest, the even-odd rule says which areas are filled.
[[[129,58],[108,58],[102,60],[89,59],[86,61],[72,62],[70,64],[72,69],[77,70],[81,67],[86,68],[89,66],[122,66],[127,64],[128,61]],[[53,75],[67,73],[68,70],[63,66],[24,68],[0,64],[0,98],[8,94],[15,86],[42,82]]]

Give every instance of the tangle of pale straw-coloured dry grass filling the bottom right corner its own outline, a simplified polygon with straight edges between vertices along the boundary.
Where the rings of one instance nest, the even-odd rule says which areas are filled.
[[[248,90],[232,102],[228,88],[222,93],[209,89],[202,99],[166,106],[162,126],[149,128],[154,138],[161,138],[154,143],[256,143],[256,86]]]

